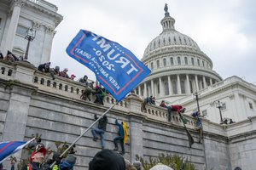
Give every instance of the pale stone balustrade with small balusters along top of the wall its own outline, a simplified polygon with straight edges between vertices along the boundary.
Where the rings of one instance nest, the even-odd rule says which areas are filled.
[[[24,80],[18,77],[20,74],[17,75],[16,72],[17,70],[19,70],[19,72],[26,70],[26,66],[29,66],[31,69],[29,71],[32,71],[32,80],[31,82],[26,81],[26,83],[37,87],[38,91],[47,94],[55,94],[69,99],[80,100],[81,94],[83,94],[83,91],[85,89],[84,84],[80,82],[75,82],[65,77],[55,77],[55,80],[53,80],[53,78],[50,77],[49,73],[38,71],[36,67],[23,61],[9,63],[1,60],[0,78],[3,78],[4,80],[19,80],[20,82],[23,82]],[[29,74],[26,73],[26,75]],[[91,94],[90,99],[91,101],[84,102],[93,102],[95,99],[94,95]],[[107,94],[107,96],[104,99],[104,106],[109,107],[114,103],[116,103],[116,99],[114,99],[113,96],[111,96],[110,94]],[[122,101],[120,101],[118,104],[114,106],[114,108],[119,111],[124,111],[128,113],[129,109],[127,99],[123,99]],[[141,113],[143,116],[147,116],[152,120],[168,123],[166,108],[162,108],[157,104],[146,105],[146,109],[147,111],[142,111]],[[187,127],[195,128],[195,119],[193,119],[193,117],[191,116],[184,116],[189,120]],[[177,126],[183,125],[181,119],[179,118],[176,112],[172,112],[172,124]]]

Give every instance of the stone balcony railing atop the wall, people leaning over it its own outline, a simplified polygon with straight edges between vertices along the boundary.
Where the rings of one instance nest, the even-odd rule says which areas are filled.
[[[15,63],[9,63],[0,60],[0,79],[5,81],[19,81],[27,85],[31,85],[37,88],[37,91],[43,94],[57,95],[62,98],[73,99],[79,102],[90,103],[90,105],[96,105],[93,103],[95,99],[91,96],[91,101],[85,101],[80,99],[81,94],[85,88],[84,84],[75,82],[73,80],[64,77],[55,77],[55,80],[50,77],[48,73],[38,71],[34,65],[24,61],[18,61]],[[132,100],[132,101],[131,101]],[[135,100],[135,102],[133,102]],[[120,101],[114,106],[114,109],[129,114],[131,112],[140,116],[145,116],[150,120],[169,124],[167,122],[166,108],[162,108],[158,105],[146,105],[146,111],[141,111],[142,99],[139,99],[136,95],[128,95],[125,99]],[[104,99],[104,106],[110,107],[116,103],[116,100],[112,95],[107,94]],[[184,115],[188,120],[187,127],[195,128],[195,119],[192,116]],[[179,116],[172,114],[172,126],[183,126]]]

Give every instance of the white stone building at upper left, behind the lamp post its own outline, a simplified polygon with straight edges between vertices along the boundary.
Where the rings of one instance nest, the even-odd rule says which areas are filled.
[[[57,7],[44,0],[12,0],[0,3],[0,51],[11,51],[17,57],[26,53],[26,30],[36,30],[30,43],[28,61],[39,65],[49,61],[55,27],[63,17]]]

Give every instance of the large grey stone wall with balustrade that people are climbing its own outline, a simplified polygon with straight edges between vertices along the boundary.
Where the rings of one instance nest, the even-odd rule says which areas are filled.
[[[109,95],[104,106],[81,100],[82,84],[61,77],[53,81],[49,75],[24,62],[12,65],[0,61],[0,69],[1,141],[29,140],[32,134],[39,133],[46,147],[54,150],[55,141],[71,144],[94,122],[95,113],[102,114],[115,102]],[[16,81],[10,83],[9,80]],[[6,87],[6,84],[12,86]],[[255,151],[250,150],[249,145],[256,145],[255,121],[224,126],[204,119],[204,140],[203,144],[198,144],[195,120],[186,116],[189,119],[187,127],[195,139],[195,144],[189,149],[188,137],[177,114],[173,114],[170,124],[166,121],[164,108],[147,105],[147,111],[142,112],[140,104],[141,99],[130,95],[109,111],[106,148],[113,149],[113,138],[117,135],[114,121],[118,118],[127,122],[129,127],[125,158],[131,162],[135,161],[136,155],[148,159],[164,153],[188,158],[200,170],[226,170],[236,166],[253,168],[249,161],[250,156],[255,156]],[[244,136],[246,132],[248,135]],[[99,141],[92,141],[89,131],[79,139],[76,150],[76,169],[87,169],[101,145]],[[24,152],[17,157],[27,158]],[[8,167],[8,163],[4,165]]]

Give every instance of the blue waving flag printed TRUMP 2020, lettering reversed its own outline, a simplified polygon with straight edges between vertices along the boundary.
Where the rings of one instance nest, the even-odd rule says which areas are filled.
[[[97,80],[117,101],[150,73],[131,51],[91,31],[80,30],[66,51],[93,71]]]

